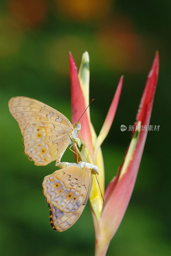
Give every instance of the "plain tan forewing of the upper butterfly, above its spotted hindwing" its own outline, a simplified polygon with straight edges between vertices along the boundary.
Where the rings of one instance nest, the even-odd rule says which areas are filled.
[[[73,125],[64,115],[38,100],[14,97],[9,100],[8,106],[11,115],[18,122],[22,135],[27,124],[37,121],[50,121],[73,128]]]

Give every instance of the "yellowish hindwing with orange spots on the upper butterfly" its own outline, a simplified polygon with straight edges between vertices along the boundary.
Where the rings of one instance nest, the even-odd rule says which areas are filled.
[[[23,133],[24,153],[36,165],[46,165],[56,160],[68,147],[69,126],[59,123],[32,122]]]

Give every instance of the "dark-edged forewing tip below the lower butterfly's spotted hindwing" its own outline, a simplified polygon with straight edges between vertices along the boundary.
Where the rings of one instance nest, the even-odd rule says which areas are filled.
[[[49,220],[51,227],[55,231],[65,231],[70,228],[78,220],[82,211],[84,210],[85,204],[82,205],[76,212],[62,212],[56,208],[53,204],[48,204],[49,206]]]

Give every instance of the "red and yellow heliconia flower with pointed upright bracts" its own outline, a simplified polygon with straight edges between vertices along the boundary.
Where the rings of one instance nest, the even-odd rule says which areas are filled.
[[[85,52],[82,56],[79,72],[77,72],[71,53],[69,53],[69,62],[71,75],[72,123],[75,123],[81,116],[82,111],[89,104],[88,52]],[[110,240],[115,235],[131,198],[147,136],[147,131],[141,130],[141,126],[148,126],[150,122],[158,74],[159,54],[156,52],[136,116],[136,122],[134,124],[136,130],[132,132],[133,137],[125,153],[123,163],[118,168],[118,174],[110,181],[105,193],[104,165],[100,146],[110,130],[116,113],[123,84],[123,76],[120,78],[117,90],[98,137],[91,124],[89,109],[87,113],[85,112],[82,116],[81,137],[89,150],[91,159],[93,159],[93,164],[96,164],[99,168],[98,181],[105,199],[105,204],[103,204],[97,182],[95,178],[93,178],[89,201],[95,229],[96,256],[106,255]]]

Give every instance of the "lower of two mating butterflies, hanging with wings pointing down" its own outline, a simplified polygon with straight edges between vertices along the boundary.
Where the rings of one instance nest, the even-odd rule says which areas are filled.
[[[62,169],[47,175],[42,186],[50,209],[51,227],[62,232],[82,214],[92,186],[92,173],[99,170],[88,162],[62,162],[58,167]]]

